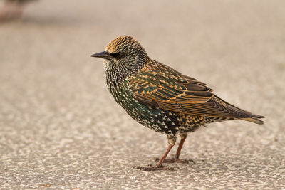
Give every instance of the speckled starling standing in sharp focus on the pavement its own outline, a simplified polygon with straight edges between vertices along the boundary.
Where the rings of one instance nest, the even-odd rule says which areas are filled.
[[[141,125],[167,136],[167,150],[157,164],[135,169],[174,170],[163,163],[188,163],[189,160],[180,159],[187,134],[209,123],[228,120],[264,123],[260,120],[264,116],[229,104],[206,83],[153,60],[132,36],[115,38],[105,51],[91,57],[103,58],[105,83],[115,102]],[[166,159],[177,136],[181,139],[175,157]]]

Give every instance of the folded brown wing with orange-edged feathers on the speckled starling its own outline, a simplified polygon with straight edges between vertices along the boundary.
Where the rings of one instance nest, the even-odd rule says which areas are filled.
[[[257,117],[212,93],[205,83],[155,61],[130,78],[130,89],[141,104],[189,115]]]

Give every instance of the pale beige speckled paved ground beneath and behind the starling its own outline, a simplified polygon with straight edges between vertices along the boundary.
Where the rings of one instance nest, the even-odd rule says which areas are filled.
[[[1,23],[0,189],[284,189],[284,6],[48,0]],[[132,169],[154,164],[167,139],[115,104],[90,58],[125,35],[265,125],[212,124],[182,149],[196,164]]]

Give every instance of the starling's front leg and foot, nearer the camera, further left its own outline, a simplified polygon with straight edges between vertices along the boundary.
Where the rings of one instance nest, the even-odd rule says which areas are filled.
[[[167,135],[167,139],[168,139],[168,148],[165,152],[165,154],[163,154],[163,156],[158,160],[157,164],[155,166],[152,166],[151,164],[147,167],[133,167],[135,169],[142,169],[145,171],[154,171],[154,170],[174,170],[173,167],[165,167],[162,166],[162,163],[165,162],[165,158],[167,157],[167,154],[170,152],[170,149],[172,149],[172,147],[175,145],[176,142],[176,137],[175,136],[171,136],[171,135]]]

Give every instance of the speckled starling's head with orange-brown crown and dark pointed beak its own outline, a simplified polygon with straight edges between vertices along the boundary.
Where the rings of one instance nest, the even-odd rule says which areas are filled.
[[[122,71],[138,71],[148,58],[145,49],[132,36],[115,38],[105,51],[95,53],[91,57],[103,58],[106,68],[115,67]]]

